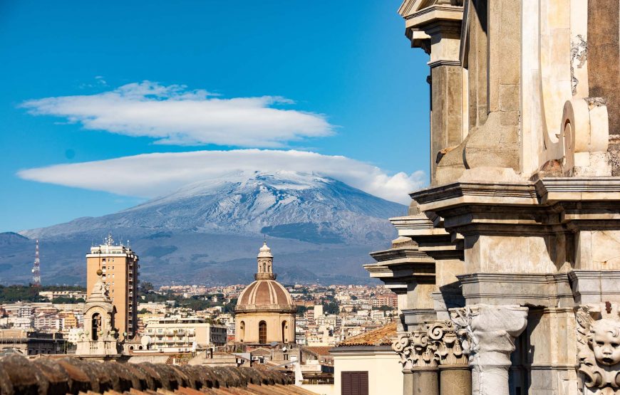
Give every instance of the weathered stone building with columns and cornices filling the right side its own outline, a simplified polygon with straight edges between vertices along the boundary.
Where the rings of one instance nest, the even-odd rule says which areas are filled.
[[[366,265],[405,394],[620,394],[619,0],[405,0],[430,186]]]

